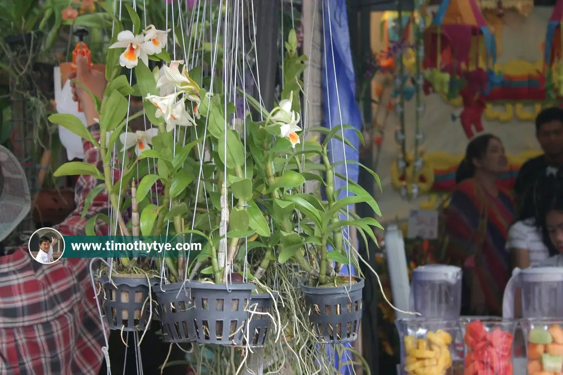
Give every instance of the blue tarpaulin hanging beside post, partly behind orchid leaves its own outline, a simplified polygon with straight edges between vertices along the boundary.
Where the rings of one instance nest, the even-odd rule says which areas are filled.
[[[346,13],[346,2],[343,0],[323,0],[324,20],[324,48],[323,48],[323,114],[324,124],[327,128],[340,127],[341,124],[349,124],[361,130],[361,114],[356,102],[354,65],[350,51],[350,34],[348,33],[348,17]],[[358,133],[354,129],[344,129],[344,137],[359,149]],[[358,151],[354,148],[333,138],[328,145],[329,160],[338,162],[343,160],[355,160],[358,162]],[[336,173],[346,176],[348,179],[358,182],[359,167],[357,164],[347,163],[336,166]],[[339,199],[353,194],[346,191],[346,181],[335,178],[334,189],[343,188],[339,193]],[[354,207],[350,206],[350,210]],[[347,231],[345,236],[347,235]],[[357,244],[354,244],[357,246]],[[352,269],[352,273],[354,270]],[[341,274],[349,274],[348,267],[342,269]],[[349,352],[346,352],[349,354]],[[348,358],[336,358],[336,367],[340,360],[348,361]],[[351,366],[342,367],[341,374],[354,373]]]

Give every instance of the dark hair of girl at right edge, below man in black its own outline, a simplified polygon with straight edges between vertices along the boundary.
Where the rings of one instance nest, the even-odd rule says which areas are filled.
[[[546,216],[550,211],[563,212],[563,171],[558,171],[555,178],[551,177],[548,182],[542,181],[543,185],[540,189],[537,202],[537,214],[535,215],[536,225],[542,233],[542,240],[546,245],[549,256],[558,255],[559,252],[553,246],[549,239],[547,231]]]

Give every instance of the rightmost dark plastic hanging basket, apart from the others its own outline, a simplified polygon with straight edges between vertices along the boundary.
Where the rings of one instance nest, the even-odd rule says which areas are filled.
[[[338,344],[356,340],[360,330],[362,309],[361,291],[364,279],[338,287],[310,287],[301,285],[309,321],[320,342]]]

